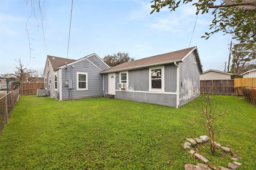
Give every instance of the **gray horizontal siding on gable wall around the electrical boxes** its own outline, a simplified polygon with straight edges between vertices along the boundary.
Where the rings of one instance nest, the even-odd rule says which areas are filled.
[[[72,70],[74,66],[74,73]],[[103,96],[103,79],[100,70],[92,63],[84,60],[62,68],[62,100],[79,99]],[[67,69],[66,69],[67,68]],[[76,87],[76,73],[86,72],[88,74],[88,90],[77,90]],[[67,80],[73,80],[74,77],[74,88],[72,91],[68,89],[68,86],[64,86],[64,82]]]

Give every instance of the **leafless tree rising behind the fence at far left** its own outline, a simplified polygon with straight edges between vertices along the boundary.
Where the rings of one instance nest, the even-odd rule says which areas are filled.
[[[14,76],[16,76],[17,78],[20,79],[20,82],[24,82],[24,80],[26,80],[27,76],[29,76],[29,74],[34,73],[35,71],[33,70],[28,70],[27,68],[24,68],[24,64],[21,63],[21,59],[15,60],[17,61],[19,64],[18,66],[15,65],[15,68],[17,69],[15,71],[15,74],[12,74]]]

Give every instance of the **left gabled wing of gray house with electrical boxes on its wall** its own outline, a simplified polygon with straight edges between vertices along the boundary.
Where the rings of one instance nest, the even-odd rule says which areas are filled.
[[[79,60],[48,55],[44,67],[46,94],[58,100],[103,96],[100,72],[108,68],[95,53]]]

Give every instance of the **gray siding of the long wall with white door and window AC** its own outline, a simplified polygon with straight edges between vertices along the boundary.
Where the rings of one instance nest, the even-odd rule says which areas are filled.
[[[176,92],[176,72],[177,68],[174,64],[166,64],[164,66],[165,92]],[[119,90],[117,88],[120,77],[119,72],[116,72],[116,76],[116,90]],[[149,68],[129,70],[128,90],[116,91],[115,98],[176,106],[176,94],[149,92]]]

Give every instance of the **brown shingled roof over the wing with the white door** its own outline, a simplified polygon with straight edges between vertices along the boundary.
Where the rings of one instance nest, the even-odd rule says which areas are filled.
[[[197,47],[190,47],[188,49],[183,49],[183,50],[165,53],[161,55],[155,55],[155,56],[147,57],[144,59],[129,61],[126,63],[119,64],[117,66],[114,66],[112,68],[109,68],[107,70],[104,70],[100,73],[108,73],[108,72],[121,71],[121,70],[131,70],[131,69],[138,69],[138,68],[154,66],[154,65],[182,62],[194,50],[197,51]],[[195,55],[199,61],[200,72],[202,72],[202,65],[201,65],[198,53],[196,53]]]

